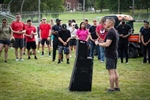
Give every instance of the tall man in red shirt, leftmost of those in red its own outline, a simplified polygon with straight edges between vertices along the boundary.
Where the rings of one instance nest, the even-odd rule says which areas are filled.
[[[23,34],[25,32],[25,24],[21,22],[21,15],[17,14],[16,15],[16,20],[12,22],[11,24],[13,36],[15,38],[14,42],[14,48],[15,48],[15,56],[16,56],[16,61],[18,61],[18,48],[20,48],[20,60],[24,61],[22,59],[22,54],[23,54]]]

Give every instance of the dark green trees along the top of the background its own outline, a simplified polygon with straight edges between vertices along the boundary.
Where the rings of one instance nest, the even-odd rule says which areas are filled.
[[[11,12],[18,11],[37,11],[38,0],[4,0],[4,3],[10,3]],[[85,0],[85,9],[94,7],[95,11],[109,9],[110,12],[118,11],[118,2],[120,1],[120,11],[129,11],[132,9],[132,0]],[[83,0],[79,0],[83,5]],[[146,9],[147,13],[150,7],[150,0],[134,0],[135,9]],[[65,10],[64,0],[41,0],[41,11],[62,12]]]

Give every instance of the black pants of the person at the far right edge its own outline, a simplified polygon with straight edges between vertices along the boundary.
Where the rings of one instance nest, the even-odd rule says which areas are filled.
[[[148,62],[150,63],[150,43],[147,46],[143,45],[143,63],[147,61],[147,52],[148,52]]]

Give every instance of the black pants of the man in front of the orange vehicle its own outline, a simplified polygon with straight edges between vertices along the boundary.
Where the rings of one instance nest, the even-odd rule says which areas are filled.
[[[120,56],[120,59],[121,59],[121,63],[123,63],[123,57],[124,57],[124,54],[125,54],[125,57],[126,57],[126,63],[128,62],[128,42],[122,42],[122,43],[119,43],[119,56]]]

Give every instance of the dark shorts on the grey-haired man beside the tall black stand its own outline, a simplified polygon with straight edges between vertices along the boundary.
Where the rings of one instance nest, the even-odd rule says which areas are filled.
[[[106,69],[116,69],[117,68],[117,58],[106,58]]]

